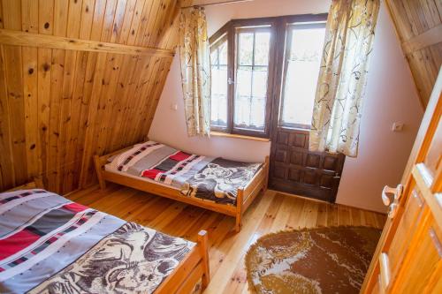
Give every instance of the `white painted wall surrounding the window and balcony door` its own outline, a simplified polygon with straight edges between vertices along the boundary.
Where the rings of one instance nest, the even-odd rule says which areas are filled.
[[[323,13],[328,11],[329,5],[329,0],[255,0],[209,6],[206,9],[208,30],[213,34],[230,19]],[[379,13],[376,34],[362,111],[359,155],[346,160],[337,202],[385,211],[380,192],[384,185],[399,183],[423,111],[385,4]],[[171,109],[172,104],[177,104],[178,110]],[[403,132],[391,132],[395,121],[405,123]],[[270,153],[268,142],[187,137],[179,57],[175,57],[171,64],[149,138],[188,152],[247,162],[263,161]]]

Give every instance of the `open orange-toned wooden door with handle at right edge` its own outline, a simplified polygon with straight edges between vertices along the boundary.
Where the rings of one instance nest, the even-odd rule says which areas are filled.
[[[439,72],[362,293],[442,292],[441,90]]]

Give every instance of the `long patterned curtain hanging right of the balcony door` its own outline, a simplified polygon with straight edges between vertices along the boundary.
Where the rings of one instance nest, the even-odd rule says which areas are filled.
[[[310,151],[356,157],[379,0],[333,0],[316,87]]]

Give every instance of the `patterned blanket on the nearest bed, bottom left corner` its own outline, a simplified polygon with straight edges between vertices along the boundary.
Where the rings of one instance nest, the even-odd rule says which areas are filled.
[[[193,247],[52,192],[0,193],[1,293],[152,293]]]

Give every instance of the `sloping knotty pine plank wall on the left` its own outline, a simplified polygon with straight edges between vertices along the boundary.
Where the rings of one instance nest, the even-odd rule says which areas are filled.
[[[0,0],[2,34],[29,34],[0,42],[0,190],[38,175],[55,192],[90,185],[92,155],[145,139],[178,41],[179,7],[186,4]],[[67,37],[96,48],[106,48],[103,42],[129,47],[95,52],[32,41],[52,36],[57,43]],[[153,53],[133,54],[139,47]]]

